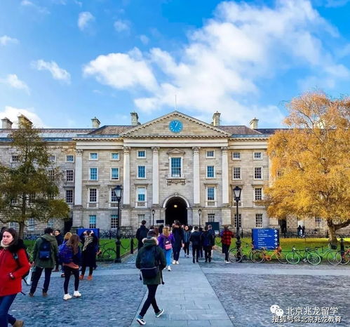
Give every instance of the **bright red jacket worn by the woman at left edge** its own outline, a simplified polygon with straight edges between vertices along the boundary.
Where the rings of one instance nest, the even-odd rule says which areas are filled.
[[[17,294],[22,291],[22,276],[30,265],[23,248],[17,251],[18,260],[8,249],[0,248],[0,296]],[[12,272],[15,279],[10,278]]]

